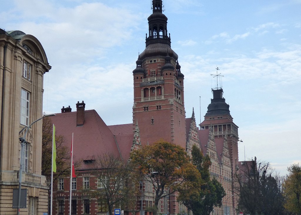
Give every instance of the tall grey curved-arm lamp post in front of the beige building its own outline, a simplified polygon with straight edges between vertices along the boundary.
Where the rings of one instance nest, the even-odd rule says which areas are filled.
[[[18,206],[17,206],[17,215],[20,215],[20,202],[21,202],[21,183],[22,183],[22,163],[23,163],[23,148],[24,148],[24,145],[27,143],[26,141],[26,135],[27,135],[27,132],[28,130],[31,128],[31,126],[36,123],[37,121],[39,120],[42,120],[44,117],[49,117],[49,116],[55,116],[55,114],[45,114],[43,115],[43,117],[33,121],[29,126],[26,126],[24,127],[20,132],[23,132],[25,129],[25,132],[24,132],[24,135],[23,137],[20,137],[19,140],[21,142],[21,157],[20,157],[20,170],[19,170],[19,187],[18,187]]]

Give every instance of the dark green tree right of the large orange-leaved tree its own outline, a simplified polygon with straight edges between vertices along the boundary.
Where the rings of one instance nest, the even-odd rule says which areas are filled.
[[[215,178],[210,179],[210,157],[204,156],[196,145],[192,147],[192,164],[201,174],[199,192],[197,195],[190,195],[186,190],[181,191],[178,201],[182,201],[193,214],[209,215],[214,206],[222,206],[222,198],[226,195],[225,190]]]

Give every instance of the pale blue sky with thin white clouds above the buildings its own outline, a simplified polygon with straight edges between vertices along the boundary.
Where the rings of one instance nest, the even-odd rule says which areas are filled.
[[[0,28],[35,36],[51,70],[43,111],[95,109],[107,125],[132,123],[133,76],[151,0],[0,0]],[[301,0],[163,0],[185,75],[186,117],[203,121],[216,87],[239,126],[239,160],[275,173],[301,164]]]

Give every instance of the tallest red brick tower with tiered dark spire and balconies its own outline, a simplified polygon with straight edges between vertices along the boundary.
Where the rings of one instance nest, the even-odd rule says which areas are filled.
[[[146,48],[133,70],[133,128],[138,122],[142,145],[158,139],[186,148],[184,75],[171,49],[162,0],[153,0]]]

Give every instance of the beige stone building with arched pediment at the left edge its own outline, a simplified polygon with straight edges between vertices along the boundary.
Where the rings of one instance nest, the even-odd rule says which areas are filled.
[[[43,76],[50,69],[38,39],[0,29],[0,214],[17,213],[12,204],[19,180],[19,137],[26,126],[42,117]],[[26,208],[20,214],[42,214],[48,208],[48,187],[41,175],[42,121],[33,124],[26,141],[22,174]]]

